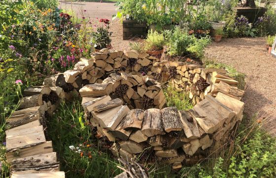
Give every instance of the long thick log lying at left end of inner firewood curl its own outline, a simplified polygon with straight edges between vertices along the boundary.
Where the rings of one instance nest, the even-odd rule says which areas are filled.
[[[112,84],[90,84],[79,90],[81,96],[104,96],[112,92]]]

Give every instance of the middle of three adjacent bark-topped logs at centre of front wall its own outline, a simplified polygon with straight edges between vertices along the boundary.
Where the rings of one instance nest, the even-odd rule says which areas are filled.
[[[144,111],[141,131],[147,136],[165,134],[162,126],[160,109],[152,108]]]

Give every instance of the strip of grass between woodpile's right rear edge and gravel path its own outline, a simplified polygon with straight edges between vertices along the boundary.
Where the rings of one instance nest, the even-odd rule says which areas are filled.
[[[218,68],[218,69],[224,69],[227,71],[227,75],[230,77],[234,78],[236,81],[239,82],[238,88],[243,89],[245,87],[245,74],[238,72],[234,67],[223,64],[223,63],[218,63],[212,59],[204,59],[203,63],[206,68]]]

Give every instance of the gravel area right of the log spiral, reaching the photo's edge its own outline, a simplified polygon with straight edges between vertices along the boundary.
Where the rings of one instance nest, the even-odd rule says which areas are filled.
[[[224,39],[212,43],[206,49],[206,56],[218,62],[229,64],[246,74],[244,112],[247,116],[260,112],[273,120],[268,126],[275,129],[276,121],[276,58],[265,48],[265,38]]]

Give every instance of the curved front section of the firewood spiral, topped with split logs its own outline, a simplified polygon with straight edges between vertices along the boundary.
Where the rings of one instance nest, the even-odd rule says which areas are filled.
[[[120,79],[121,76],[112,77]],[[110,83],[115,84],[102,85]],[[131,109],[123,98],[108,95],[112,85],[110,92],[100,88],[86,92],[82,105],[87,119],[97,127],[98,135],[114,142],[111,147],[114,155],[130,160],[152,148],[147,157],[172,164],[178,170],[182,164],[194,164],[203,158],[214,140],[226,139],[242,119],[244,103],[237,98],[243,91],[222,81],[215,86],[212,90],[215,97],[207,94],[188,111],[175,107]]]

